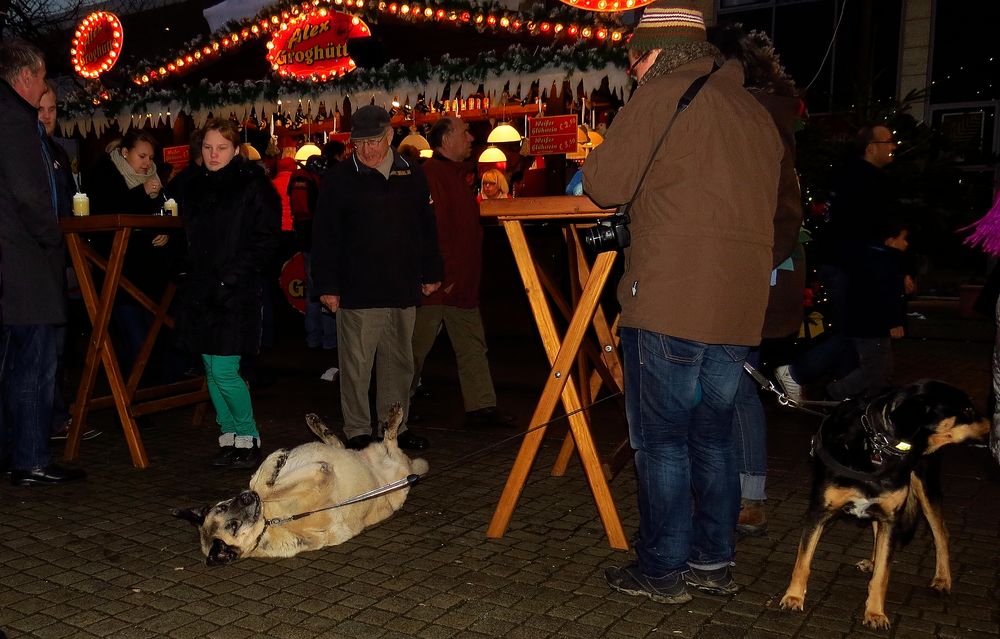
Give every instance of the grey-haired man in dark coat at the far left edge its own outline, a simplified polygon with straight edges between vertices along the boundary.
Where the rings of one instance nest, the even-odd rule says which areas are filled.
[[[66,322],[65,245],[57,219],[55,159],[38,106],[48,87],[45,58],[24,42],[0,45],[0,251],[3,262],[0,446],[11,483],[82,479],[52,463],[49,433],[55,393],[56,327]],[[7,432],[4,432],[7,431]]]

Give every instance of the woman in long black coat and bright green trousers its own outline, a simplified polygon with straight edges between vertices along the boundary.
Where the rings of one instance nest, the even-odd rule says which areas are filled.
[[[178,194],[187,233],[180,284],[177,346],[201,355],[208,392],[221,429],[212,465],[254,468],[260,433],[240,358],[260,348],[262,277],[278,247],[281,201],[264,170],[239,154],[240,135],[229,120],[209,120],[201,131],[202,166]]]

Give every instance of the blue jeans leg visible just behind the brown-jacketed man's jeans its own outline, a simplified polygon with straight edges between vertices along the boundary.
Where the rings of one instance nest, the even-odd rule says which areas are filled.
[[[760,367],[760,349],[751,349],[747,361]],[[736,469],[740,475],[740,495],[743,499],[764,500],[767,480],[767,421],[760,403],[757,382],[750,375],[740,376],[733,410],[733,448]]]

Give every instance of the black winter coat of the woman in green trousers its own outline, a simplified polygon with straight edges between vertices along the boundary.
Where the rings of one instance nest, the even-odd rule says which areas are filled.
[[[178,291],[178,347],[207,355],[256,353],[261,271],[278,247],[281,200],[256,164],[237,156],[198,169],[180,205],[188,255]]]

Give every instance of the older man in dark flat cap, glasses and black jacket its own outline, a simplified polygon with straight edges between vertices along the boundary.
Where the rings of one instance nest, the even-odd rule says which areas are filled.
[[[323,177],[312,269],[320,301],[337,313],[347,445],[362,449],[377,435],[368,408],[373,366],[379,421],[393,404],[409,410],[416,307],[441,286],[443,266],[427,179],[392,150],[386,110],[358,109],[351,142],[353,155]],[[409,429],[398,442],[408,450],[428,446]]]

